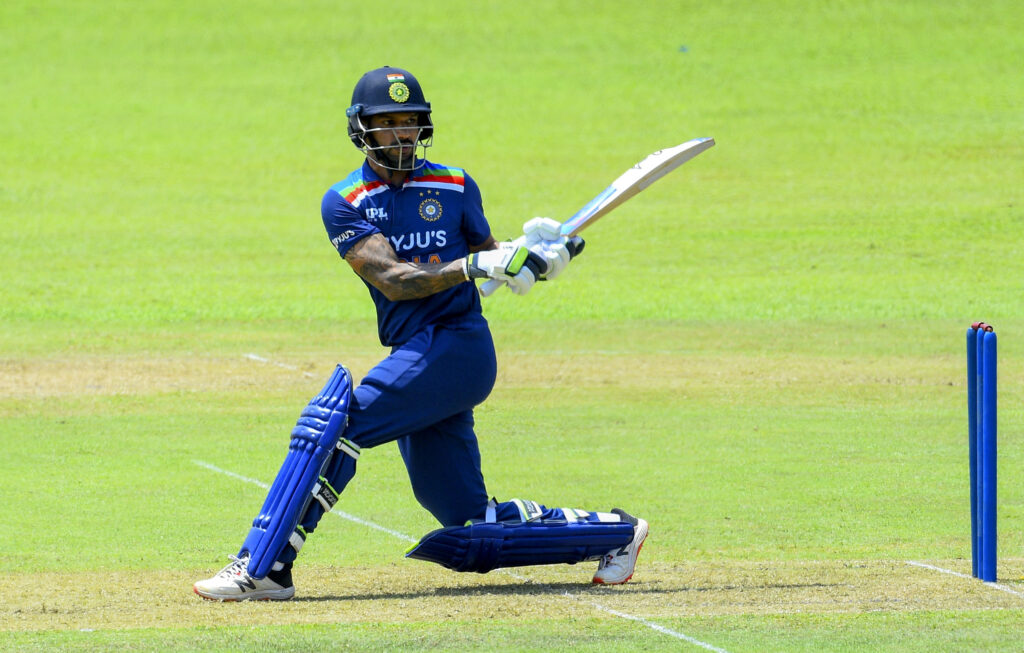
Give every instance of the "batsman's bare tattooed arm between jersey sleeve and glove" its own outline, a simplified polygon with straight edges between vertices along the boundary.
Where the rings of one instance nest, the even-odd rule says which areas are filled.
[[[369,235],[348,250],[345,260],[355,273],[391,301],[419,299],[466,280],[462,260],[447,263],[409,263],[394,253],[380,233]]]

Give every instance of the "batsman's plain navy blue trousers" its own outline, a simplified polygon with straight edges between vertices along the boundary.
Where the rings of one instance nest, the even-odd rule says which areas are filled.
[[[482,315],[429,326],[392,349],[352,391],[344,437],[360,447],[397,441],[417,500],[441,525],[480,519],[487,491],[473,407],[490,394],[497,374]],[[353,473],[351,459],[336,453],[325,477],[341,492]],[[311,502],[300,525],[312,532],[323,515]],[[285,556],[294,558],[291,549]]]

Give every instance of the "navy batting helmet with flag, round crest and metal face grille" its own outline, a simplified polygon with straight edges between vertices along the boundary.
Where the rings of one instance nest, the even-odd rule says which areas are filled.
[[[409,170],[413,162],[396,162],[383,153],[367,126],[371,116],[379,114],[415,113],[419,115],[419,147],[431,145],[434,125],[430,120],[430,102],[423,96],[423,89],[412,73],[400,68],[385,66],[370,71],[356,82],[352,90],[352,104],[345,111],[348,117],[348,137],[367,156],[386,168]]]

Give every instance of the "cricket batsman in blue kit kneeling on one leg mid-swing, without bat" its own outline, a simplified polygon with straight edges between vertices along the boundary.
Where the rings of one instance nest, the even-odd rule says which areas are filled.
[[[397,442],[413,492],[441,527],[410,558],[455,571],[598,561],[593,582],[633,576],[647,522],[609,512],[488,499],[473,408],[490,393],[497,360],[476,279],[516,295],[554,279],[582,249],[558,222],[534,218],[497,242],[476,182],[426,159],[430,102],[409,72],[364,75],[345,112],[362,165],[324,195],[331,244],[377,307],[390,354],[357,387],[338,365],[302,410],[285,462],[231,562],[195,583],[204,599],[286,600],[292,565],[355,474],[361,451]]]

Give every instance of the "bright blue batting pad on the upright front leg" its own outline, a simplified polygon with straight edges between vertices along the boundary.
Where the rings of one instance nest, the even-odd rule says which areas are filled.
[[[354,474],[354,461],[359,456],[359,447],[341,438],[348,423],[351,396],[351,377],[345,367],[338,365],[292,430],[285,463],[239,552],[240,558],[249,556],[249,575],[254,578],[266,576],[273,567],[285,547],[289,546],[310,500],[316,498],[325,504],[326,510],[334,506],[337,494],[333,490],[328,491],[330,485],[322,475],[335,448],[352,459]]]

